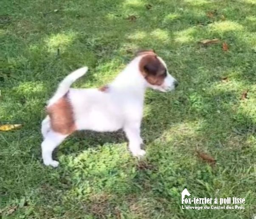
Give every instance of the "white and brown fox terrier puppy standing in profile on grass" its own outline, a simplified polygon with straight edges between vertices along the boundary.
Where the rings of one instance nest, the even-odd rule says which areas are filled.
[[[143,156],[140,135],[144,93],[147,87],[167,92],[177,81],[154,51],[137,54],[115,80],[101,89],[73,89],[70,85],[87,72],[82,67],[68,75],[49,100],[48,115],[42,121],[42,158],[45,165],[56,167],[53,150],[76,130],[113,132],[123,129],[129,150]]]

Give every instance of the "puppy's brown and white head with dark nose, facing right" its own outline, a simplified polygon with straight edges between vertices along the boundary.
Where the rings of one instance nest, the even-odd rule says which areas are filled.
[[[137,56],[141,56],[139,70],[148,87],[162,92],[171,91],[177,87],[178,81],[169,74],[166,63],[157,56],[155,51],[140,51]]]

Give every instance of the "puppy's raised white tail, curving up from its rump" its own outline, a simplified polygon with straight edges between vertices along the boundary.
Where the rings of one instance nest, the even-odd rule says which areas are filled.
[[[56,90],[56,93],[48,101],[48,107],[54,104],[56,101],[58,101],[59,98],[62,98],[68,92],[71,84],[73,84],[74,81],[82,77],[87,72],[87,70],[88,67],[82,67],[73,71],[67,77],[65,77],[65,79],[63,79],[63,81],[60,82],[59,87]]]

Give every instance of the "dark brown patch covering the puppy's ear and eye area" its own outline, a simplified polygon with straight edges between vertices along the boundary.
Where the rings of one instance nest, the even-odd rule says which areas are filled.
[[[143,56],[139,63],[139,69],[146,81],[152,85],[160,86],[167,76],[166,67],[155,54]]]

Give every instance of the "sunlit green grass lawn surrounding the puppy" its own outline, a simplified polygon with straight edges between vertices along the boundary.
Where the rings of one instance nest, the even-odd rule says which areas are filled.
[[[0,132],[2,218],[255,215],[255,11],[255,0],[1,0],[0,123],[23,124]],[[87,65],[74,87],[99,87],[138,48],[155,49],[180,81],[173,93],[146,93],[146,157],[129,154],[122,132],[80,132],[59,147],[58,168],[43,166],[40,123],[58,82]],[[184,188],[245,198],[245,209],[182,209]]]

